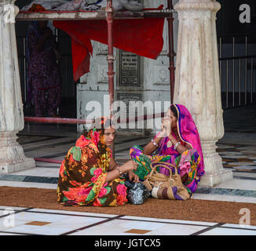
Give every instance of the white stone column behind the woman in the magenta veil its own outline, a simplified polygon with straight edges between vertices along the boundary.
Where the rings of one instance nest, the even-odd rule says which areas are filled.
[[[191,112],[202,142],[205,171],[200,186],[232,179],[223,169],[216,142],[224,135],[218,67],[215,0],[180,0],[174,103]]]

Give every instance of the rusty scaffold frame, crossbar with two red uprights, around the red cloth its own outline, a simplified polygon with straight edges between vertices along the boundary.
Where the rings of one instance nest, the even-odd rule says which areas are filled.
[[[148,9],[144,11],[115,11],[112,7],[112,0],[107,1],[106,9],[97,11],[71,11],[71,12],[44,12],[44,13],[24,13],[20,12],[16,20],[106,20],[108,26],[108,93],[110,96],[110,111],[114,102],[114,61],[113,55],[113,20],[114,19],[143,19],[145,17],[166,18],[168,23],[169,59],[170,59],[170,100],[174,100],[174,29],[173,29],[173,4],[172,0],[167,0],[166,9]]]

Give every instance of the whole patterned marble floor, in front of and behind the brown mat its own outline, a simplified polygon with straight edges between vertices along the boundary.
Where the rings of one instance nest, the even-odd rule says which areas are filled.
[[[227,133],[217,144],[223,167],[232,170],[233,179],[214,187],[199,186],[194,199],[256,203],[255,125],[237,133],[241,128],[239,123],[237,120],[233,127],[228,123]],[[79,136],[75,126],[26,124],[18,136],[25,155],[37,159],[36,167],[0,173],[0,189],[1,186],[56,189],[60,162]],[[115,158],[125,162],[131,146],[147,144],[150,139],[117,136]],[[1,205],[0,235],[256,235],[256,226]]]

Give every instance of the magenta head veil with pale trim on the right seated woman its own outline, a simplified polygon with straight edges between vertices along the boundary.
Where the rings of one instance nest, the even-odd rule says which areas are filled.
[[[190,144],[191,147],[199,153],[201,157],[201,165],[199,165],[197,175],[202,176],[204,173],[203,151],[196,124],[192,118],[192,115],[184,105],[173,104],[173,106],[177,110],[177,133],[179,134],[181,140],[187,144]]]

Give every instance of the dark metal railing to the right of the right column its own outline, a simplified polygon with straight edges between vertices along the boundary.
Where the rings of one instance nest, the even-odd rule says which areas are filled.
[[[254,104],[256,101],[255,41],[256,37],[252,35],[218,38],[223,109]]]

